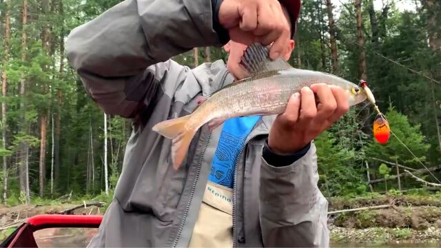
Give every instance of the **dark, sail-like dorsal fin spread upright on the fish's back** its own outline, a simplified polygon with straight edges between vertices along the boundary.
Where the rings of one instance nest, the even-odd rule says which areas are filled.
[[[251,76],[260,72],[269,72],[274,70],[286,70],[292,68],[287,61],[282,58],[271,60],[269,58],[269,49],[260,43],[253,43],[243,53],[240,59],[240,65],[247,70]]]

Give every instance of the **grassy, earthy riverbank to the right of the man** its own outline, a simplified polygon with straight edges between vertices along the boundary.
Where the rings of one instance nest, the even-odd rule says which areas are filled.
[[[439,194],[330,198],[329,205],[329,211],[390,205],[331,214],[332,247],[441,247]]]

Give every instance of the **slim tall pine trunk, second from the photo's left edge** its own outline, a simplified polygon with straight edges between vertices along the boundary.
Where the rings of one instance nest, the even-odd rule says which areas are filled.
[[[28,0],[23,0],[23,9],[22,9],[22,23],[23,30],[21,31],[21,62],[25,63],[26,61],[26,25],[28,23]],[[21,74],[20,81],[20,111],[21,111],[21,131],[23,134],[28,133],[27,123],[25,121],[25,84],[26,79],[25,75]],[[29,145],[27,141],[21,141],[21,155],[20,155],[20,191],[25,192],[25,200],[26,204],[30,203],[29,199]]]

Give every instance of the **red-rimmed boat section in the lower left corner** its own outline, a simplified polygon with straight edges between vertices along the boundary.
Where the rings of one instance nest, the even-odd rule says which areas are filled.
[[[102,219],[99,215],[33,216],[3,240],[0,247],[85,247]]]

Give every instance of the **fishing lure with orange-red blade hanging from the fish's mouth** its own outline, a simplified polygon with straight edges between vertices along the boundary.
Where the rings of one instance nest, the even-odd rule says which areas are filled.
[[[389,127],[389,122],[387,121],[384,114],[380,112],[378,106],[376,104],[375,98],[371,90],[369,89],[367,82],[364,80],[360,81],[360,86],[365,90],[367,99],[375,106],[375,110],[378,113],[376,120],[373,121],[373,136],[375,136],[378,143],[384,144],[389,141],[389,137],[391,136],[391,128]]]

